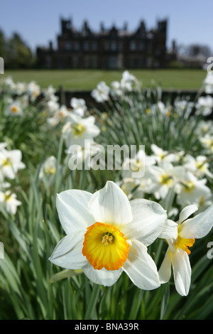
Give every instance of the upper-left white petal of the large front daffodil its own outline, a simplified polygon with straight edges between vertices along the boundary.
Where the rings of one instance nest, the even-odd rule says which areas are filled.
[[[94,224],[94,217],[88,210],[91,193],[84,190],[65,190],[58,194],[56,207],[58,216],[66,234],[87,230]]]

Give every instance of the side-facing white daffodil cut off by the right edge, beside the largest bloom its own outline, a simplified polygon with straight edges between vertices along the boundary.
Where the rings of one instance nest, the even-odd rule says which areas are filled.
[[[192,269],[188,247],[192,247],[195,239],[205,237],[213,226],[213,205],[199,215],[187,219],[196,210],[196,205],[185,207],[180,212],[178,222],[168,220],[165,231],[160,235],[160,238],[168,242],[168,250],[158,271],[160,282],[163,284],[169,281],[173,268],[175,288],[181,296],[187,296],[190,291]]]

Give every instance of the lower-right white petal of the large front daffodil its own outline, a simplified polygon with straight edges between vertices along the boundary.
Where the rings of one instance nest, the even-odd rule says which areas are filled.
[[[138,240],[131,240],[129,254],[122,269],[139,289],[153,290],[160,286],[155,262],[146,246]]]

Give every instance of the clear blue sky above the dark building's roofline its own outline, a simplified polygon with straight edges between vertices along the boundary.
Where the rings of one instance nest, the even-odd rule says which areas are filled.
[[[128,23],[129,31],[141,20],[154,28],[158,19],[168,18],[168,47],[178,44],[209,45],[213,52],[212,0],[1,0],[0,28],[7,37],[14,31],[35,50],[36,45],[55,44],[60,33],[60,17],[72,18],[75,28],[86,19],[99,30],[101,22],[110,28]]]

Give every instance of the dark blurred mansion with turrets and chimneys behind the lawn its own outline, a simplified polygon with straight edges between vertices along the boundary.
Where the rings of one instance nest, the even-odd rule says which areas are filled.
[[[40,68],[165,68],[167,21],[158,21],[156,28],[147,30],[141,21],[136,31],[101,24],[98,32],[87,21],[77,31],[71,20],[60,20],[61,32],[57,48],[37,48]]]

